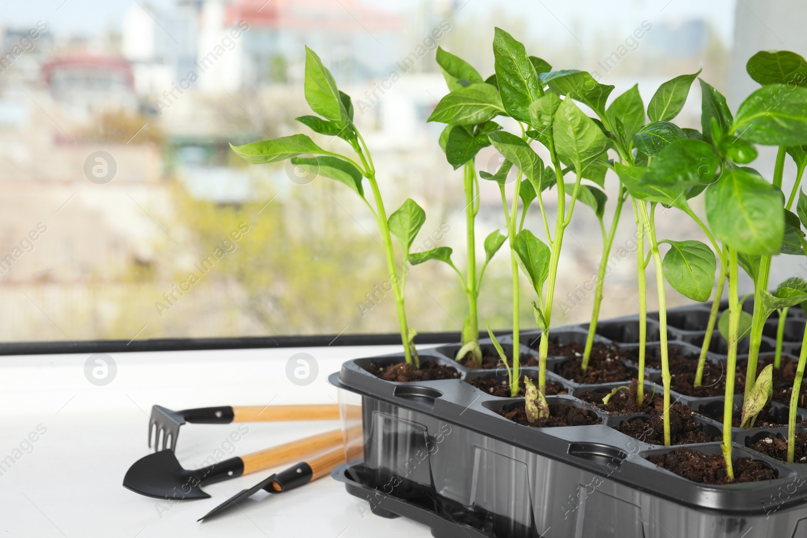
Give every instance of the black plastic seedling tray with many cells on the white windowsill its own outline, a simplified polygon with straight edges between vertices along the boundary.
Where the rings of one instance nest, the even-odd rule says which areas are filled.
[[[692,342],[705,334],[708,313],[708,305],[671,310],[670,345],[697,356],[700,350]],[[621,351],[635,348],[636,327],[635,317],[601,322],[597,341]],[[795,328],[790,333],[801,340]],[[532,344],[538,334],[523,333],[521,342]],[[585,326],[561,327],[551,338],[581,343],[585,334]],[[648,335],[659,335],[651,319]],[[717,346],[719,339],[716,335]],[[500,341],[512,344],[512,339]],[[522,353],[537,357],[523,344]],[[403,354],[347,361],[329,378],[362,399],[363,457],[334,469],[332,476],[345,482],[350,494],[365,498],[375,514],[419,521],[437,538],[807,538],[807,465],[788,465],[746,448],[767,434],[781,438],[786,428],[737,427],[732,433],[734,457],[764,461],[776,479],[725,486],[691,482],[647,460],[673,447],[647,444],[616,429],[642,415],[613,415],[575,398],[584,391],[607,392],[629,379],[581,385],[555,373],[564,359],[550,357],[547,378],[568,393],[548,397],[550,405],[583,408],[600,423],[528,427],[495,413],[523,407],[523,398],[497,398],[462,381],[501,372],[463,368],[451,358],[457,348],[427,349],[420,357],[456,369],[459,379],[387,382],[365,369],[395,364]],[[716,367],[724,360],[709,354]],[[537,368],[523,371],[537,375]],[[660,373],[646,373],[646,390],[652,390]],[[708,415],[719,415],[723,407],[722,397],[673,392],[672,399]],[[741,402],[735,397],[733,405]],[[786,406],[771,406],[787,412]],[[807,411],[800,409],[799,416],[807,418]],[[700,429],[721,435],[721,423],[707,416],[695,419]],[[716,442],[679,446],[721,453]]]

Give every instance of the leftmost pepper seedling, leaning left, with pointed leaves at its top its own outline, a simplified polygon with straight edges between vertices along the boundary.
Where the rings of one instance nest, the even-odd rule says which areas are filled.
[[[403,250],[403,260],[406,261],[412,241],[415,240],[417,232],[424,223],[424,211],[410,198],[387,218],[387,210],[376,180],[376,170],[370,149],[365,144],[358,127],[353,123],[351,99],[348,94],[337,88],[336,81],[328,68],[322,64],[320,56],[317,56],[316,52],[310,48],[306,47],[305,50],[305,98],[308,106],[311,106],[317,116],[306,115],[297,120],[311,128],[312,131],[345,140],[353,148],[353,152],[356,153],[361,164],[353,161],[349,156],[320,148],[306,135],[282,136],[240,146],[230,144],[230,147],[237,155],[256,165],[291,159],[293,165],[297,165],[309,173],[340,181],[362,199],[378,224],[378,230],[381,231],[384,257],[387,262],[392,293],[395,297],[404,357],[408,364],[419,367],[420,362],[414,345],[416,332],[408,326],[404,307],[407,264],[401,264],[400,270],[396,267],[392,236],[399,240]],[[313,156],[307,157],[306,155]],[[374,206],[365,197],[363,178],[370,184]]]

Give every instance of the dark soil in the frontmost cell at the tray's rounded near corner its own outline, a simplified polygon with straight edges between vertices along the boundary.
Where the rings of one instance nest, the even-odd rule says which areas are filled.
[[[722,454],[705,454],[692,448],[675,448],[668,454],[647,458],[679,476],[701,484],[732,484],[735,482],[759,482],[776,478],[776,473],[763,461],[750,457],[738,457],[732,461],[734,480],[726,476]]]

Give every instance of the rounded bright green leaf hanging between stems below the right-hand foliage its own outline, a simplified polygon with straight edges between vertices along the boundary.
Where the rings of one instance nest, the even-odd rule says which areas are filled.
[[[712,296],[717,260],[712,249],[700,241],[662,241],[670,244],[664,255],[664,277],[679,294],[705,302]]]

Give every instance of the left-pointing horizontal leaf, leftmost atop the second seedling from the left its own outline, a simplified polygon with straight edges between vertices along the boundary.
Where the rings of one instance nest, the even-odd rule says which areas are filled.
[[[481,82],[445,95],[426,121],[476,125],[485,123],[503,112],[499,92],[490,84]]]

